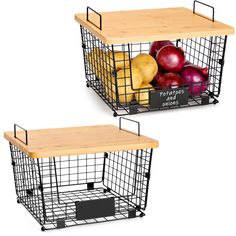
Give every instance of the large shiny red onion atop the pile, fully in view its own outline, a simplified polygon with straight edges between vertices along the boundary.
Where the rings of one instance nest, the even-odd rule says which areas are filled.
[[[180,72],[185,63],[184,52],[175,46],[164,46],[156,55],[158,65],[168,72]]]

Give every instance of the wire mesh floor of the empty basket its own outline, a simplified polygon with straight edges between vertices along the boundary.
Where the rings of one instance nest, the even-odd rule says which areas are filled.
[[[32,209],[28,207],[24,198],[20,199],[20,203],[31,213],[31,215],[42,225],[42,230],[52,230],[65,228],[76,225],[108,222],[114,220],[134,218],[137,216],[144,216],[144,212],[134,204],[122,199],[114,193],[106,191],[105,188],[97,188],[93,190],[74,190],[67,192],[60,192],[60,201],[58,203],[57,193],[47,193],[44,195],[44,202],[46,208],[46,217],[43,218],[43,212],[38,212],[41,215],[41,221],[38,220],[38,217],[34,214]],[[91,219],[77,220],[76,218],[76,205],[73,201],[92,201],[98,199],[109,199],[114,198],[114,215],[106,217],[97,217]],[[38,199],[38,198],[37,198]],[[29,199],[27,199],[28,201]],[[41,201],[40,197],[38,200],[36,198],[31,199],[33,201]],[[70,201],[70,202],[69,202]]]

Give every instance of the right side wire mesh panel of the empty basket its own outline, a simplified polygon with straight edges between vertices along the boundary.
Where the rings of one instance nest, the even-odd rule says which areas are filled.
[[[152,150],[117,151],[106,159],[104,184],[136,209],[146,208]]]

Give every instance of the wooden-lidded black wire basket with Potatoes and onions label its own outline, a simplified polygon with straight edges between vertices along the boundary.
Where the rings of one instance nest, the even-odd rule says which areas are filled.
[[[196,13],[196,3],[209,7],[212,18]],[[102,98],[114,116],[218,103],[227,35],[234,29],[215,21],[213,7],[194,1],[193,10],[101,14],[88,7],[87,14],[76,14],[75,19],[80,23],[87,87]],[[181,48],[188,63],[208,71],[207,80],[172,89],[153,83],[151,88],[136,88],[132,60],[141,53],[149,54],[151,42],[158,40],[171,40]],[[194,89],[198,92],[193,93]]]

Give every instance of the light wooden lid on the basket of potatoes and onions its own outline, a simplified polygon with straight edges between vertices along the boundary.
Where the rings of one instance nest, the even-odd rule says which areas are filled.
[[[133,11],[102,12],[102,30],[76,14],[75,20],[107,44],[173,40],[234,33],[234,28],[221,22],[193,14],[187,8],[162,8]],[[95,13],[90,21],[99,24]]]

